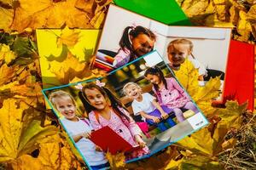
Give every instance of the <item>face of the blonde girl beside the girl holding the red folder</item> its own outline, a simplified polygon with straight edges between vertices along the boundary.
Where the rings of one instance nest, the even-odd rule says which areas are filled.
[[[55,107],[61,115],[69,120],[73,120],[76,116],[76,106],[73,105],[73,100],[68,96],[55,99]]]

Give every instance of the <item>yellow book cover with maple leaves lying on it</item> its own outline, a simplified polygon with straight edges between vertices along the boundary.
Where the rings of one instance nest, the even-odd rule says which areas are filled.
[[[90,70],[100,30],[37,29],[43,88],[79,82],[100,73]]]

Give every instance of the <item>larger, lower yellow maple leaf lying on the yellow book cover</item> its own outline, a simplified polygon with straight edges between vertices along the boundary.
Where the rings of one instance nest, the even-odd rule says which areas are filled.
[[[71,53],[67,54],[67,58],[64,61],[51,61],[49,66],[49,71],[54,73],[62,84],[71,82],[75,77],[84,79],[91,76],[89,65],[79,62],[79,59],[75,58]]]

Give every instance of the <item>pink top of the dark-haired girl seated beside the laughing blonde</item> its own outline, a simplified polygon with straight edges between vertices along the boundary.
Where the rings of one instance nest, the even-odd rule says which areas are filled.
[[[160,105],[166,105],[170,109],[181,108],[190,101],[188,94],[177,83],[175,78],[166,78],[167,89],[164,86],[158,92],[153,87]]]

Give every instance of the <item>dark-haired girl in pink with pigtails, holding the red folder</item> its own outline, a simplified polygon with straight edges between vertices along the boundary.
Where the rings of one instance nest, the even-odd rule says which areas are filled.
[[[139,144],[139,149],[125,153],[126,161],[148,154],[149,150],[142,139],[140,128],[119,99],[104,87],[104,83],[88,83],[84,85],[82,94],[85,111],[89,113],[91,126],[95,130],[108,126],[131,145]]]

